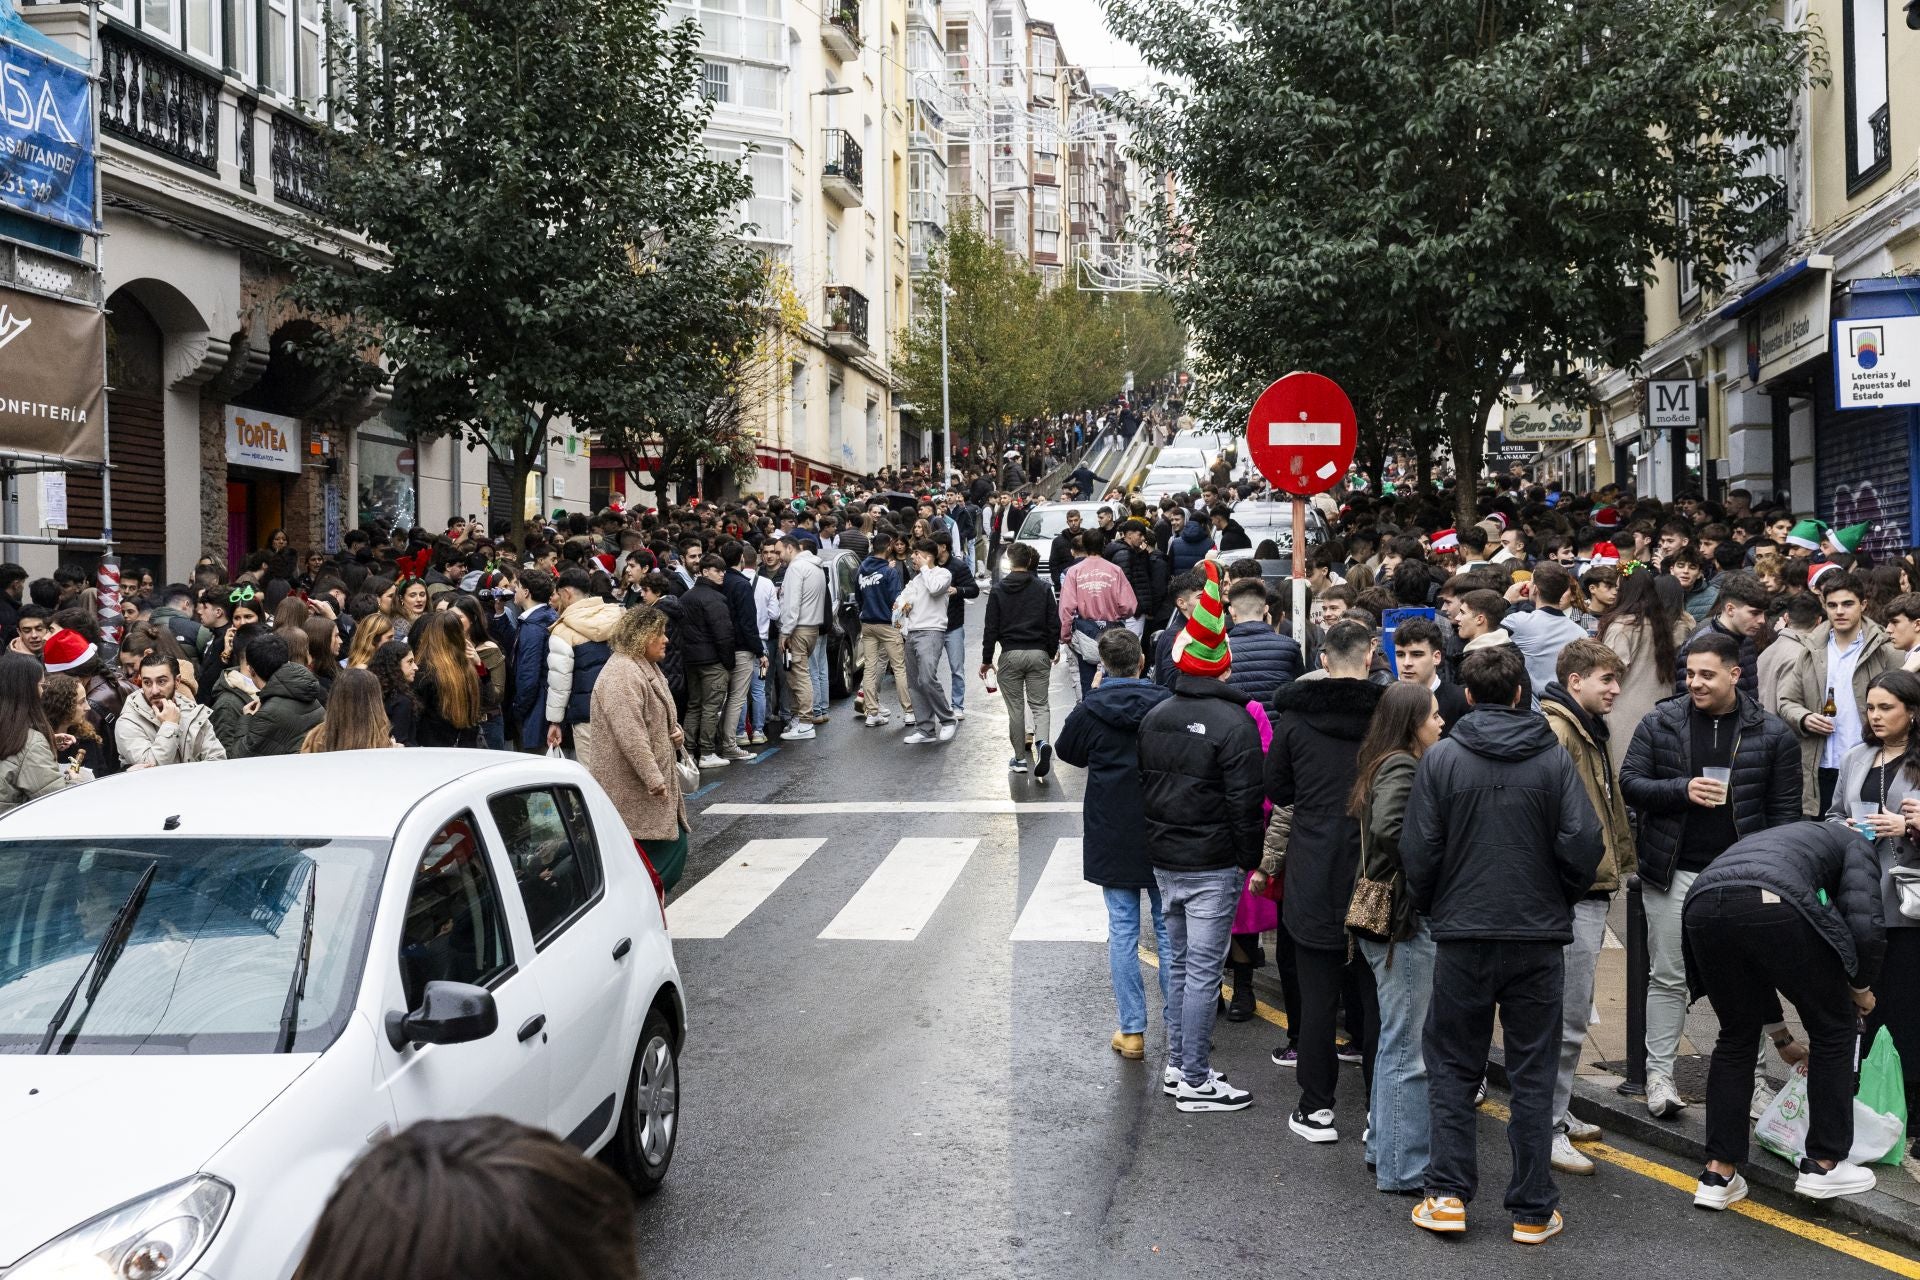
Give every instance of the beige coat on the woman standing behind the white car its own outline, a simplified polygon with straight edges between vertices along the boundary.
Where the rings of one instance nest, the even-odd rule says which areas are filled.
[[[674,775],[674,695],[653,662],[612,654],[593,681],[588,773],[601,785],[636,841],[672,841],[687,823],[687,798]],[[655,787],[666,794],[653,794]]]

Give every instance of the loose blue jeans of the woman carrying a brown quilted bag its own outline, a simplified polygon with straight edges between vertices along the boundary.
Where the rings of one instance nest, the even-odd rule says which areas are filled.
[[[1380,998],[1380,1042],[1373,1050],[1373,1136],[1367,1161],[1382,1192],[1417,1192],[1427,1186],[1432,1142],[1427,1107],[1427,1055],[1421,1036],[1434,994],[1434,936],[1427,921],[1405,942],[1357,938],[1373,988]]]

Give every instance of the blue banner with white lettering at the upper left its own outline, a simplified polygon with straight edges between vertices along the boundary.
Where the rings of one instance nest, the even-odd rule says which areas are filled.
[[[86,71],[0,40],[0,205],[94,230],[94,109]]]

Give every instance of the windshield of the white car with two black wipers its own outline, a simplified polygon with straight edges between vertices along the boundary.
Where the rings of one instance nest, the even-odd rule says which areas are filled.
[[[273,1054],[290,1007],[292,1052],[324,1050],[359,992],[386,854],[384,841],[0,841],[0,1054],[40,1052],[56,1021],[52,1054]],[[129,900],[125,944],[96,963]]]

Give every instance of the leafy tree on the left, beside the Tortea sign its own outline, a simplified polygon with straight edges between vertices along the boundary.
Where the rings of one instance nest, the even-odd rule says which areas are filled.
[[[372,249],[288,251],[292,301],[338,317],[305,355],[361,384],[403,370],[417,434],[484,447],[515,493],[561,418],[689,416],[716,347],[758,322],[733,238],[747,184],[701,142],[693,23],[662,0],[365,10],[361,52],[332,50],[321,194]]]

